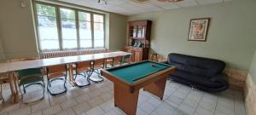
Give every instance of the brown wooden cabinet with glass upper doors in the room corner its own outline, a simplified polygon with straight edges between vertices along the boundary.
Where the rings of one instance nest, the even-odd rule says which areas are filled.
[[[128,23],[128,44],[125,50],[131,52],[132,61],[148,60],[151,25],[151,20],[136,20]]]

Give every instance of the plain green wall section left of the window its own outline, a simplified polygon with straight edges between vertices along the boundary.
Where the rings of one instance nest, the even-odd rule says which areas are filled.
[[[1,0],[0,37],[6,58],[38,55],[31,5],[20,7],[18,0]]]

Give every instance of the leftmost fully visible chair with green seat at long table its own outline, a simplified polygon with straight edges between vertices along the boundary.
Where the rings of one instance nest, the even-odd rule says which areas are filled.
[[[25,70],[20,70],[16,72],[16,76],[17,78],[20,79],[19,81],[19,89],[20,86],[23,87],[23,92],[24,94],[26,94],[26,88],[34,85],[34,84],[38,84],[40,86],[42,86],[43,88],[43,94],[42,97],[39,98],[38,100],[35,101],[23,101],[23,94],[21,92],[20,89],[20,94],[22,96],[22,102],[25,104],[29,104],[29,103],[33,103],[33,102],[37,102],[37,101],[42,101],[44,99],[44,75],[42,74],[42,69],[41,68],[30,68],[30,69],[25,69]]]

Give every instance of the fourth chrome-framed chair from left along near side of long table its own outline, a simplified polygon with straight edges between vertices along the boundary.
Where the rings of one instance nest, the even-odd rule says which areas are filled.
[[[104,66],[105,66],[105,59],[98,59],[98,60],[92,61],[93,72],[96,72],[97,78],[90,76],[89,77],[90,81],[95,82],[95,83],[102,83],[102,81],[104,79],[101,76],[100,69],[103,69]]]

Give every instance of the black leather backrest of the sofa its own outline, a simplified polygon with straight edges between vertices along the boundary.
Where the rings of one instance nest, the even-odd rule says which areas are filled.
[[[212,77],[224,70],[225,63],[222,60],[215,60],[191,55],[172,53],[168,55],[168,63],[177,66],[177,70],[191,72],[193,74]]]

